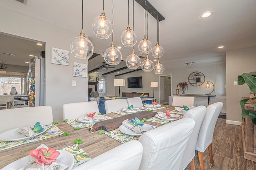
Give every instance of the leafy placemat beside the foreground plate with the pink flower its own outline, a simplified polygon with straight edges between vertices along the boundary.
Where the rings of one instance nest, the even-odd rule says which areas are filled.
[[[66,148],[63,148],[62,150],[70,152],[75,157],[75,164],[73,168],[91,159],[90,156],[86,154],[86,152],[84,152],[84,150],[80,148],[80,146],[78,146],[78,144],[68,146]]]

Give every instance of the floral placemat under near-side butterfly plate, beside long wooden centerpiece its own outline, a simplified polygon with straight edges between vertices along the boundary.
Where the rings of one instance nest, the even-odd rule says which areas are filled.
[[[152,125],[150,126],[152,128],[156,128],[155,126],[152,126]],[[125,143],[130,140],[139,140],[140,138],[140,136],[130,136],[128,134],[124,134],[119,130],[119,128],[115,130],[111,130],[109,132],[105,132],[105,134],[121,143]]]

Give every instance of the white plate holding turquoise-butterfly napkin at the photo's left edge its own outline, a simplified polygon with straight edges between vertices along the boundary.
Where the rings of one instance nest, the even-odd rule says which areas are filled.
[[[8,130],[6,132],[3,132],[0,134],[0,140],[2,141],[22,141],[22,140],[28,140],[30,138],[34,138],[43,132],[45,132],[48,128],[46,126],[43,126],[44,130],[42,132],[36,132],[31,137],[27,137],[19,132],[17,132],[18,128],[14,128],[12,130]]]

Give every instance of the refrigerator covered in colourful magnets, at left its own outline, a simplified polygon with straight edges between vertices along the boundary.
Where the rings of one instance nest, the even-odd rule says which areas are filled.
[[[26,89],[29,107],[44,106],[44,63],[42,57],[33,57],[29,62]]]

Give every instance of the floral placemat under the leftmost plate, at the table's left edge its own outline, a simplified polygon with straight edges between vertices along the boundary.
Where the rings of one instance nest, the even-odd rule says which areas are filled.
[[[9,149],[9,148],[13,148],[15,146],[20,146],[22,144],[27,144],[27,143],[31,143],[31,142],[36,142],[38,140],[44,140],[47,138],[52,138],[55,136],[60,136],[63,134],[63,132],[56,127],[55,125],[46,125],[46,127],[48,127],[48,129],[42,133],[42,135],[36,136],[32,139],[29,140],[23,140],[23,141],[15,141],[15,142],[11,142],[11,141],[0,141],[0,150],[5,150],[5,149]]]

